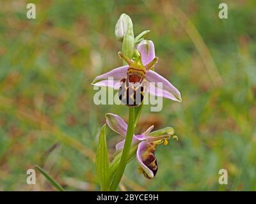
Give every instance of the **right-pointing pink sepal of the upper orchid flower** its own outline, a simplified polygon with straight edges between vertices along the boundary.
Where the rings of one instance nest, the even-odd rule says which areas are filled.
[[[153,96],[161,96],[172,99],[173,101],[182,101],[179,90],[155,71],[147,71],[146,80],[148,82],[154,82],[148,85],[148,92]]]

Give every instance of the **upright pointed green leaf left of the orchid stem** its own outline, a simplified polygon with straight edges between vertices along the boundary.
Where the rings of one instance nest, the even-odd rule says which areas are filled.
[[[102,126],[99,135],[99,145],[96,154],[96,173],[100,182],[100,189],[102,191],[109,191],[109,161],[108,148],[106,142],[106,124]]]

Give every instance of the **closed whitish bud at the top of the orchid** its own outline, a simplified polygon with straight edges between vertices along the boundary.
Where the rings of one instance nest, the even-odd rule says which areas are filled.
[[[132,25],[131,18],[129,17],[129,15],[122,13],[115,26],[115,36],[118,41],[122,42],[124,40],[124,36],[127,32],[129,24]]]

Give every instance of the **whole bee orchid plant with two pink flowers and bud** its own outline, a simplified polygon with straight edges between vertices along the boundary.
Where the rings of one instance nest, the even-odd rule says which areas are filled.
[[[134,158],[138,161],[139,172],[147,179],[154,178],[158,169],[155,156],[157,145],[167,145],[170,138],[177,139],[174,129],[170,127],[152,131],[154,126],[150,126],[144,133],[134,135],[145,93],[181,101],[178,89],[154,71],[158,58],[154,43],[145,40],[149,32],[143,31],[134,38],[132,20],[123,13],[115,26],[115,36],[122,42],[122,52],[118,52],[118,55],[123,59],[123,66],[96,77],[92,82],[95,86],[118,89],[118,98],[129,108],[128,124],[116,114],[106,114],[108,127],[124,138],[116,144],[111,163],[108,159],[106,124],[100,131],[96,171],[102,191],[116,191],[125,166]]]

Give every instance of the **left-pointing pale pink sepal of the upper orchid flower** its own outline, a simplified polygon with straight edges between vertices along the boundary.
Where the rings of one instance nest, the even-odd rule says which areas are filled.
[[[99,75],[96,77],[92,85],[96,86],[107,86],[112,87],[114,89],[118,89],[120,87],[120,80],[122,78],[126,78],[127,75],[127,69],[129,66],[121,66],[120,68],[112,69],[111,71],[108,71],[107,73],[104,73],[102,75]]]

